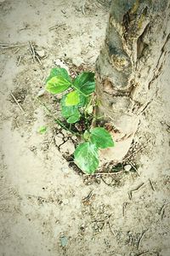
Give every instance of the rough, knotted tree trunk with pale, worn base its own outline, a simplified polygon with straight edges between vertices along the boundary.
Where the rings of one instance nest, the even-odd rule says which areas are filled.
[[[122,160],[159,84],[169,54],[169,0],[112,0],[105,44],[96,61],[97,113],[113,127]]]

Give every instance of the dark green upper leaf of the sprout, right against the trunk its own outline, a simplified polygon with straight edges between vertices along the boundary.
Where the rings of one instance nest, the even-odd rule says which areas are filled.
[[[82,92],[84,96],[88,96],[95,90],[94,73],[84,72],[77,76],[73,85]]]

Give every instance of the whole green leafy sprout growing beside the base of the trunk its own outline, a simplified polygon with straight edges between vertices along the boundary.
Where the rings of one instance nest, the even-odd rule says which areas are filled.
[[[66,91],[60,100],[61,114],[68,124],[84,123],[82,140],[75,152],[75,164],[82,172],[93,174],[99,166],[99,149],[113,147],[111,134],[103,127],[91,128],[94,119],[94,73],[83,72],[71,79],[65,68],[52,68],[46,80],[46,90],[51,94]],[[80,132],[81,132],[80,131]]]

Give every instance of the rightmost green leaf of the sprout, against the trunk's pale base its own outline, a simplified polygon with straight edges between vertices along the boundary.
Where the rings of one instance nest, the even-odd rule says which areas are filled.
[[[90,140],[97,148],[114,147],[111,134],[102,127],[96,127],[91,131]]]

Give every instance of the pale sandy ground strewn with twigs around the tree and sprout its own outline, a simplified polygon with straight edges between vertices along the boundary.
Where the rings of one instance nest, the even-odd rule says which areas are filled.
[[[94,68],[108,2],[0,1],[1,256],[170,255],[170,60],[133,142],[139,175],[75,172],[63,154],[76,138],[37,102],[54,61]]]

